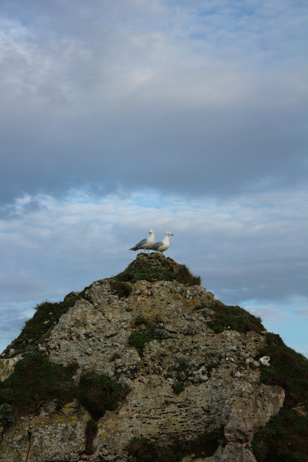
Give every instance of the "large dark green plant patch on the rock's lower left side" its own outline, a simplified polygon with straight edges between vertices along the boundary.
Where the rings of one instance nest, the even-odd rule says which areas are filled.
[[[127,395],[127,388],[105,375],[87,373],[76,383],[73,376],[78,368],[53,363],[30,346],[10,377],[0,382],[0,404],[12,406],[14,415],[20,416],[35,411],[38,403],[57,400],[63,405],[77,398],[93,419],[99,419]]]

